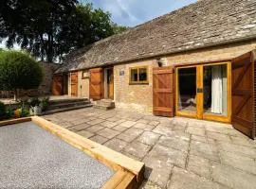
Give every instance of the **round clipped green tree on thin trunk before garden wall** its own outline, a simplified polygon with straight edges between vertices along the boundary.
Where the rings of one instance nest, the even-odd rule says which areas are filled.
[[[19,51],[0,53],[0,90],[13,91],[14,100],[17,100],[18,89],[36,89],[42,80],[41,65],[27,53]]]

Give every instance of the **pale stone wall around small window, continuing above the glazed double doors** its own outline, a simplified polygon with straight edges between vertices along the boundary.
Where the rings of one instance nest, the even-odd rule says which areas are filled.
[[[232,43],[217,47],[209,47],[171,56],[163,57],[166,66],[183,63],[198,63],[220,60],[231,60],[256,48],[256,41]],[[123,63],[114,66],[114,98],[116,107],[137,112],[153,111],[152,68],[158,66],[156,59]],[[130,85],[129,68],[140,65],[149,66],[149,84]],[[124,76],[119,72],[124,71]]]

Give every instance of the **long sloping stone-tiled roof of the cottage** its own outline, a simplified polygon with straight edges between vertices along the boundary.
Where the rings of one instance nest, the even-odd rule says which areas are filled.
[[[256,38],[256,0],[203,0],[71,53],[57,72]]]

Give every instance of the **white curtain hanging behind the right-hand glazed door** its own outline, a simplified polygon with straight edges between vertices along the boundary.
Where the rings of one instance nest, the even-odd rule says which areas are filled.
[[[222,114],[223,87],[221,65],[211,67],[211,112]]]

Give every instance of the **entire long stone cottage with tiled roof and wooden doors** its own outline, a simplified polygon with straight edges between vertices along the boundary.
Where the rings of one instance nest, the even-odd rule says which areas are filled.
[[[53,94],[254,127],[256,0],[204,0],[71,53]]]

